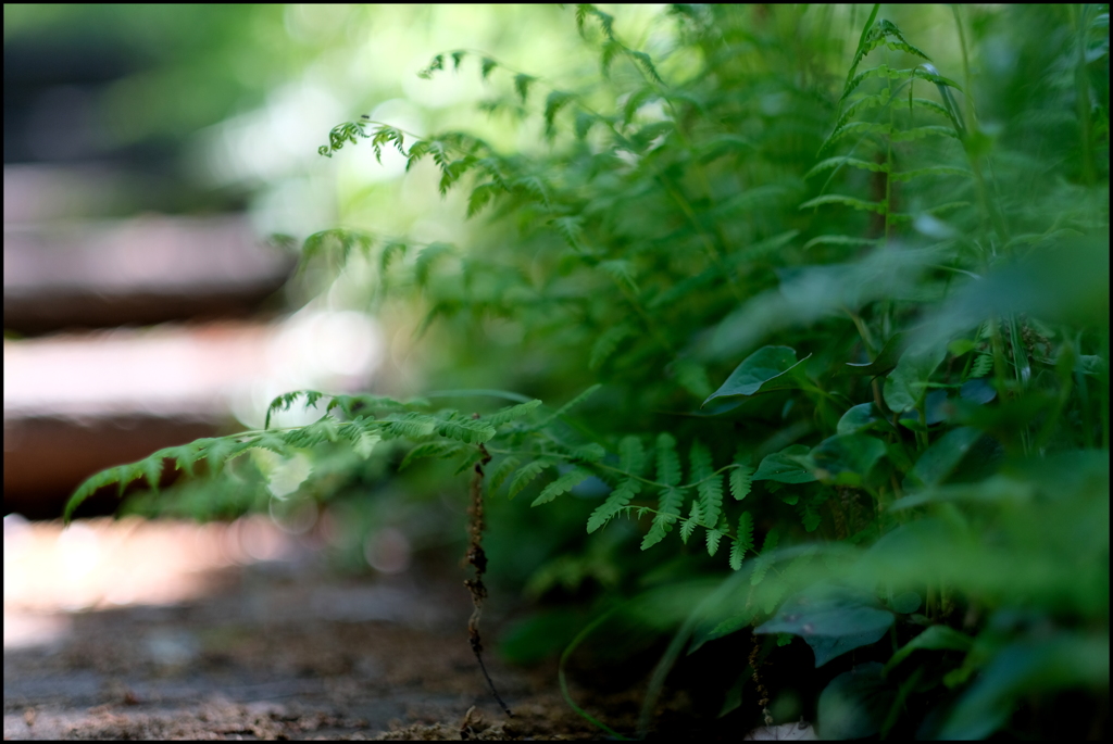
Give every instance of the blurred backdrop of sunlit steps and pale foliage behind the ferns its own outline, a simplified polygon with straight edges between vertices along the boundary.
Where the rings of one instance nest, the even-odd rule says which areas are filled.
[[[57,631],[61,621],[42,613],[179,602],[213,567],[328,547],[348,571],[391,575],[410,566],[414,540],[462,545],[462,493],[427,494],[420,515],[396,489],[326,514],[280,500],[308,463],[283,467],[276,486],[269,476],[283,464],[265,458],[230,486],[243,490],[233,513],[206,510],[204,490],[179,495],[178,516],[263,512],[230,527],[93,520],[61,533],[29,520],[59,517],[105,467],[262,426],[284,391],[421,390],[417,318],[373,315],[358,266],[338,279],[294,279],[297,246],[336,226],[459,241],[472,229],[464,205],[439,196],[434,169],[404,173],[396,152],[380,165],[370,148],[326,159],[317,147],[361,115],[415,135],[451,127],[530,139],[476,111],[474,71],[416,72],[447,47],[522,68],[588,65],[574,26],[552,24],[558,14],[567,13],[4,7],[6,645]],[[105,489],[79,516],[118,504]]]

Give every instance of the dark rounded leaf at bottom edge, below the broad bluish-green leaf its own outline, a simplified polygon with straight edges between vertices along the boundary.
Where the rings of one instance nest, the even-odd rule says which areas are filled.
[[[826,740],[865,738],[881,730],[896,690],[877,662],[838,675],[819,694],[818,733]]]

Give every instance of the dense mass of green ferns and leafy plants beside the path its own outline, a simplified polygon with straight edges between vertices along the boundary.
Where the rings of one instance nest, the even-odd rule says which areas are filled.
[[[678,659],[739,633],[757,645],[723,714],[768,721],[759,675],[799,638],[825,737],[1050,735],[1066,698],[1082,735],[1103,726],[1107,9],[951,12],[946,65],[877,6],[674,6],[674,44],[654,56],[579,6],[600,73],[578,85],[435,57],[422,76],[477,61],[505,85],[484,108],[538,117],[546,147],[341,125],[323,155],[367,139],[429,158],[487,224],[471,246],[331,230],[304,259],[367,262],[376,301],[423,307],[467,380],[569,403],[486,389],[518,405],[471,416],[337,396],[306,427],[96,476],[70,508],[156,485],[166,458],[215,470],[257,448],[367,457],[391,439],[413,443],[404,466],[490,455],[490,498],[597,498],[588,533],[628,518],[642,550],[718,562],[669,588],[688,603],[643,728]],[[521,334],[499,340],[494,320]],[[272,410],[299,395],[324,399]],[[550,583],[583,579],[560,565]],[[732,571],[708,583],[715,565]]]

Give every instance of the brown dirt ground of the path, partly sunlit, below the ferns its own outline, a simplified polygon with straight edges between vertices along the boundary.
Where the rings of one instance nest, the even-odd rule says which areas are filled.
[[[221,567],[209,556],[203,571],[183,563],[161,581],[148,571],[148,584],[129,594],[119,582],[165,558],[152,554],[152,545],[170,550],[175,539],[205,528],[132,525],[106,553],[118,529],[114,524],[90,528],[97,539],[87,534],[77,540],[85,540],[83,553],[67,548],[66,540],[73,540],[63,537],[62,548],[78,563],[60,561],[53,574],[41,576],[28,566],[49,565],[57,526],[35,525],[30,536],[12,536],[6,524],[6,740],[598,734],[564,703],[554,664],[508,668],[489,652],[485,661],[514,718],[498,708],[467,645],[471,603],[460,585],[463,572],[447,575],[457,573],[455,566],[441,568],[440,576],[411,568],[343,579],[311,554],[290,557],[286,549],[283,561],[225,559],[233,565]],[[257,549],[289,547],[282,536],[272,537],[269,548],[263,540]],[[100,553],[90,545],[100,545]],[[204,564],[205,550],[196,542],[190,549]],[[67,571],[86,572],[83,598],[59,578]],[[171,588],[185,576],[187,588],[175,596]],[[36,581],[42,586],[32,586]],[[101,586],[89,594],[97,582]],[[114,607],[105,601],[112,592],[124,592],[132,604]],[[145,605],[144,594],[164,604]],[[67,597],[85,608],[61,611]],[[484,633],[493,639],[491,625]],[[614,723],[615,716],[630,718],[632,727],[636,695],[590,700],[589,710],[605,708]]]

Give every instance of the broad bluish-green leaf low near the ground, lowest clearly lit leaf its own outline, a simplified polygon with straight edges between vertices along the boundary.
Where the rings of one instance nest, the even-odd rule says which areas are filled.
[[[893,613],[869,594],[820,582],[786,599],[777,614],[754,632],[800,636],[811,646],[816,667],[820,667],[848,651],[876,643],[893,621]]]

